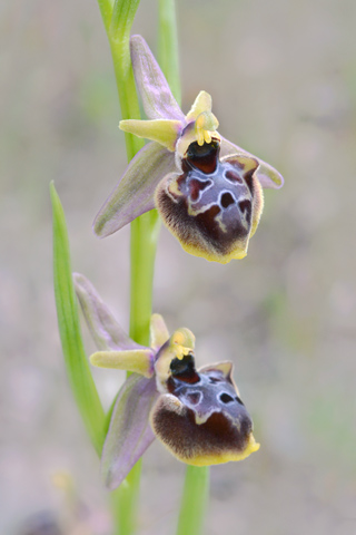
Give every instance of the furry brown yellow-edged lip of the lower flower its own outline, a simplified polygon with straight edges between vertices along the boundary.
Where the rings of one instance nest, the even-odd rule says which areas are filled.
[[[157,437],[184,463],[240,460],[259,448],[231,369],[230,362],[219,362],[196,371],[191,353],[171,361],[168,392],[158,398],[150,421]]]

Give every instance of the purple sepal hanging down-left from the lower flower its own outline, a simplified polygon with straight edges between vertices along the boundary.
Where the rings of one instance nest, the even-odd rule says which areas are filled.
[[[121,387],[103,445],[101,473],[110,490],[117,488],[155,440],[149,424],[158,397],[156,379],[132,373]]]

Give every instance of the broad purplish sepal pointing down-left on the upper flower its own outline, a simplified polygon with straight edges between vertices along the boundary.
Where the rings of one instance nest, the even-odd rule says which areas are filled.
[[[131,159],[119,184],[98,213],[93,231],[106,237],[139,215],[155,208],[155,189],[160,179],[175,171],[175,154],[158,143],[145,145]]]

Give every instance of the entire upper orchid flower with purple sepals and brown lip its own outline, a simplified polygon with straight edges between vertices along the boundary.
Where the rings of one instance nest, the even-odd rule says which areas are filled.
[[[131,38],[131,59],[149,120],[119,126],[151,143],[130,162],[95,232],[108,236],[156,206],[187,252],[221,263],[243,259],[264,207],[263,187],[281,187],[281,175],[218,134],[206,91],[185,116],[140,36]]]

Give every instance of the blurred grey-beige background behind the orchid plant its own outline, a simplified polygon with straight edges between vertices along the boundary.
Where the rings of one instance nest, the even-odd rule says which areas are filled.
[[[243,261],[188,256],[161,230],[155,310],[196,333],[199,363],[235,362],[261,444],[211,469],[205,533],[354,535],[356,3],[177,3],[184,110],[209,91],[220,133],[286,179],[266,192]],[[66,535],[108,535],[108,495],[59,346],[48,186],[65,206],[73,269],[127,327],[129,228],[91,233],[126,166],[109,47],[95,0],[12,0],[0,16],[0,533],[57,535],[71,517]],[[135,31],[154,50],[156,30],[156,2],[141,0]],[[95,377],[108,407],[123,373]],[[175,532],[184,473],[158,442],[147,451],[140,535]]]

